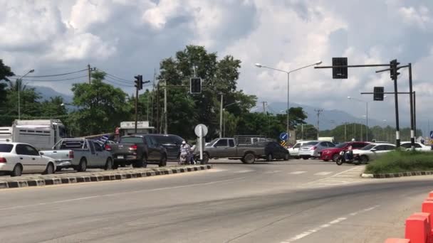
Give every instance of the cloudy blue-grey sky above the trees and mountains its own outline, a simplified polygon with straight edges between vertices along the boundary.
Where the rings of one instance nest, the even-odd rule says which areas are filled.
[[[431,117],[430,0],[0,0],[0,6],[0,58],[16,74],[35,69],[32,75],[51,75],[90,64],[125,80],[137,74],[152,80],[160,60],[186,45],[203,45],[219,58],[241,60],[239,89],[271,104],[287,102],[286,74],[254,63],[290,71],[318,60],[331,65],[333,57],[347,57],[349,65],[397,58],[412,63],[419,126]],[[292,72],[290,100],[362,117],[372,96],[360,92],[374,86],[394,90],[389,73],[377,74],[378,69],[351,68],[347,80],[333,80],[328,69]],[[400,72],[398,89],[407,92],[407,70]],[[31,85],[70,93],[73,82],[85,81],[83,75]],[[125,82],[115,86],[133,92]],[[408,95],[400,95],[399,103],[400,119],[409,121]],[[368,112],[394,122],[393,95],[370,102]]]

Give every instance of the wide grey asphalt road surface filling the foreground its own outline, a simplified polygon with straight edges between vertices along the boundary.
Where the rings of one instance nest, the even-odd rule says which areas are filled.
[[[245,165],[0,190],[0,242],[384,242],[433,178],[362,179],[361,166]]]

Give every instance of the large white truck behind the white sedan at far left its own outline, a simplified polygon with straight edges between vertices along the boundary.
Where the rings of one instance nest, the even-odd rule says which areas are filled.
[[[65,137],[65,126],[58,119],[15,120],[12,126],[0,127],[0,141],[32,144],[38,149],[51,148]]]

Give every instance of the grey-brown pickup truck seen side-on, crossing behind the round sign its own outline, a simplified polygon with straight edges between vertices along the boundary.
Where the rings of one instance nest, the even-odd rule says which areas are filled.
[[[246,141],[244,139],[244,141]],[[244,142],[234,138],[214,139],[204,146],[203,163],[209,158],[236,158],[242,163],[254,163],[256,158],[264,158],[266,141]],[[248,141],[251,141],[250,139]],[[197,153],[197,152],[196,152]]]

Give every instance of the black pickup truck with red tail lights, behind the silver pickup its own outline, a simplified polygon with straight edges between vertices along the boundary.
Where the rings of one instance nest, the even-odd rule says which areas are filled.
[[[108,144],[105,150],[113,155],[113,168],[130,165],[147,167],[147,163],[167,166],[167,150],[152,136],[122,136],[118,144]]]

